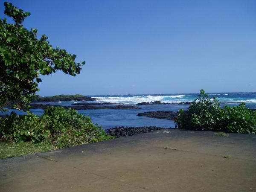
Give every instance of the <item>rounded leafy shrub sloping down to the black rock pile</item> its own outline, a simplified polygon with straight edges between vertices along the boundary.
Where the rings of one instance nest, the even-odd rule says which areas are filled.
[[[68,147],[108,140],[108,136],[90,117],[77,113],[74,109],[49,107],[43,116],[49,117],[52,143],[57,147]]]

